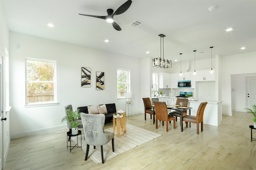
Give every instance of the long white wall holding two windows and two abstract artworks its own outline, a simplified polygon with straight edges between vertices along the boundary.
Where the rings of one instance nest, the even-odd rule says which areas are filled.
[[[24,107],[25,57],[56,60],[59,105]],[[81,67],[91,68],[91,87],[81,87]],[[10,68],[11,138],[66,127],[61,119],[68,104],[124,109],[125,99],[116,99],[117,68],[130,69],[133,114],[141,113],[140,59],[10,32]],[[105,90],[96,90],[96,71],[105,73]]]

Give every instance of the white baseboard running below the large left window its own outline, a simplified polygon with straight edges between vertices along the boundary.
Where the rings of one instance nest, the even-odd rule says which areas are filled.
[[[62,129],[62,128],[67,128],[67,125],[59,125],[59,126],[55,126],[55,127],[42,128],[42,129],[31,130],[31,131],[27,131],[27,132],[11,134],[11,139],[20,138],[20,137],[24,137],[24,136],[29,136],[29,135],[32,135],[32,134],[50,132],[52,130],[58,130],[58,129]]]

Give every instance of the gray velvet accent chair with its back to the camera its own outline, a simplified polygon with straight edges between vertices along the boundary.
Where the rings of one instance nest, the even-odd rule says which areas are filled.
[[[104,132],[105,115],[103,114],[85,114],[81,113],[82,124],[84,127],[84,139],[87,144],[86,154],[84,160],[87,160],[90,145],[101,146],[101,158],[102,164],[104,164],[103,158],[103,145],[112,140],[112,151],[115,151],[114,147],[114,132]]]

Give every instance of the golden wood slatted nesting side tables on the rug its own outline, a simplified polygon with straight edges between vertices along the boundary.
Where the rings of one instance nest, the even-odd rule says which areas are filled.
[[[113,132],[120,137],[126,133],[126,112],[113,115]]]

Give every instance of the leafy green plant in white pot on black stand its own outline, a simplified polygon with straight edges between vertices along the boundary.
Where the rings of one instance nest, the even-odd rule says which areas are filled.
[[[78,125],[79,122],[77,119],[81,118],[79,110],[72,111],[70,109],[66,110],[67,116],[64,116],[61,119],[61,123],[64,121],[69,121],[69,125],[72,126],[72,134],[78,134]]]

